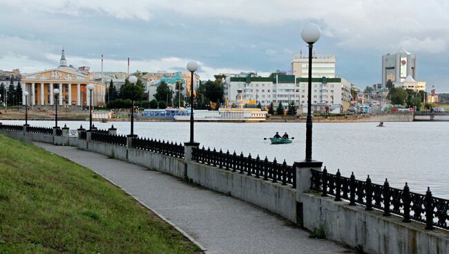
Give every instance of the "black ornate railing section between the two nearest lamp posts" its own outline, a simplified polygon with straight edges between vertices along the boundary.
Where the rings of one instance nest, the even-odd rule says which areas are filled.
[[[204,149],[204,146],[193,149],[192,159],[202,164],[209,164],[212,166],[218,166],[219,168],[225,168],[225,170],[232,170],[233,172],[246,173],[247,175],[254,175],[256,178],[263,178],[264,180],[271,180],[271,182],[280,182],[283,185],[291,184],[293,188],[296,188],[296,173],[293,166],[287,165],[284,162],[279,164],[274,158],[273,162],[269,162],[267,157],[260,159],[244,157],[243,153],[236,154],[236,151],[226,153],[220,149],[217,151],[215,148]]]

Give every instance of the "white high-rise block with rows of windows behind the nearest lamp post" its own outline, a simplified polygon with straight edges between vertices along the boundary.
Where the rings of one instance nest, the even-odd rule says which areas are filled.
[[[335,56],[334,55],[312,55],[312,77],[334,78]],[[309,77],[309,55],[294,55],[292,59],[292,75],[296,77]]]

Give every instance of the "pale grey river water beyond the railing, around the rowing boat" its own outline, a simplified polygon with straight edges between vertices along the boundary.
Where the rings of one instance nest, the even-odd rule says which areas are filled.
[[[23,124],[23,121],[2,121]],[[54,121],[29,121],[31,126],[54,126]],[[87,121],[60,121],[70,129],[88,127]],[[114,124],[117,132],[128,134],[129,122],[110,122],[95,126],[106,129]],[[449,122],[388,122],[385,128],[376,123],[316,123],[313,128],[313,159],[324,162],[329,173],[340,168],[343,176],[354,171],[356,179],[425,193],[427,186],[434,196],[449,199]],[[135,133],[169,141],[188,141],[189,123],[135,122]],[[292,144],[271,145],[264,137],[278,131],[295,137]],[[245,156],[276,157],[287,164],[305,158],[304,123],[195,123],[195,141],[201,146],[242,151]]]

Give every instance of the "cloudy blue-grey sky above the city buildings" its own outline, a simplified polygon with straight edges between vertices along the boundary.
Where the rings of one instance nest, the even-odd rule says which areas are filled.
[[[449,92],[449,2],[443,0],[0,0],[0,69],[68,64],[126,72],[186,70],[268,75],[307,52],[300,30],[321,28],[316,54],[360,88],[381,83],[382,55],[417,55],[417,80]]]

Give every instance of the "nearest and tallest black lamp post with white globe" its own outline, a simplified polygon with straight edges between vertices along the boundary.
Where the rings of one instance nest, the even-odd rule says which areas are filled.
[[[309,79],[307,90],[307,121],[305,124],[305,162],[312,162],[312,48],[320,39],[320,28],[314,23],[309,23],[301,31],[301,37],[309,44]]]

